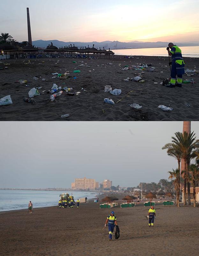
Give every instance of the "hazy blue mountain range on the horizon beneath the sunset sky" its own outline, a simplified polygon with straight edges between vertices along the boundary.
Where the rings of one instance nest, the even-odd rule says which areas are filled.
[[[78,48],[83,46],[92,47],[94,44],[95,48],[101,47],[101,49],[104,47],[106,50],[108,48],[110,49],[136,49],[136,48],[157,48],[157,47],[167,47],[169,42],[139,42],[139,41],[132,41],[132,42],[119,42],[119,41],[103,41],[103,42],[63,42],[59,40],[36,40],[33,41],[33,45],[41,48],[46,48],[48,44],[53,43],[53,45],[59,47],[68,46],[70,44],[75,44]],[[199,42],[188,42],[188,43],[175,43],[178,46],[198,46]]]

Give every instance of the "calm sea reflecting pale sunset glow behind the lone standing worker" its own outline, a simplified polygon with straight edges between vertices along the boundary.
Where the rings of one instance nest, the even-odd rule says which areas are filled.
[[[199,46],[182,46],[182,56],[199,58]],[[122,49],[112,50],[115,55],[144,55],[144,56],[168,56],[166,47],[163,48],[144,48],[144,49]]]

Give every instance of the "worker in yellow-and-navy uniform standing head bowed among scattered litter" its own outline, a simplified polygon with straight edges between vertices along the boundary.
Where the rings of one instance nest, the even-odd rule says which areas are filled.
[[[169,43],[166,50],[168,51],[169,56],[172,56],[172,62],[169,63],[169,65],[172,65],[171,66],[171,82],[170,82],[170,85],[166,85],[166,87],[170,87],[170,88],[173,88],[175,86],[182,87],[182,75],[185,74],[185,70],[184,70],[185,63],[182,58],[181,49],[177,45],[174,45],[173,43]],[[176,84],[176,76],[178,76],[177,84]]]

